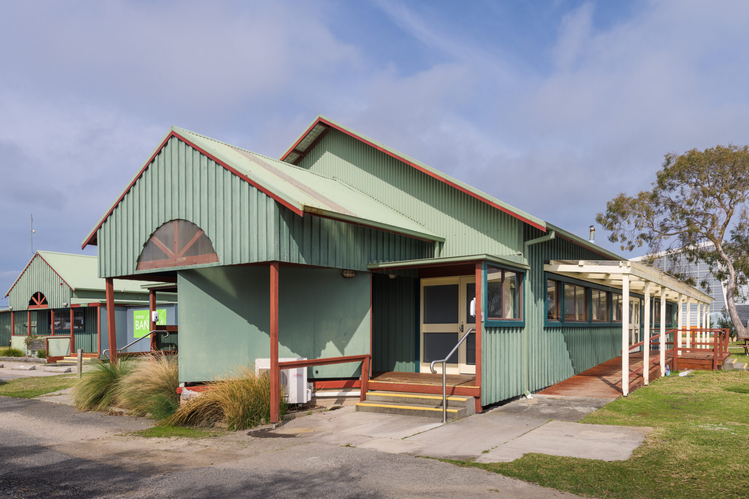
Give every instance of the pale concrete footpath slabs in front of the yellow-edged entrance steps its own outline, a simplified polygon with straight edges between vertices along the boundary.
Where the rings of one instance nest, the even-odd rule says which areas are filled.
[[[356,412],[354,407],[345,407],[292,420],[280,429],[257,432],[257,436],[476,462],[509,462],[525,453],[628,459],[651,428],[574,422],[607,402],[536,395],[446,424],[428,417]]]

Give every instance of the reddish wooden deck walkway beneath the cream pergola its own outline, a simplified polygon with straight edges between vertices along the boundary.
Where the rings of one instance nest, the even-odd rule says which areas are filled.
[[[659,352],[650,352],[650,359],[655,360]],[[671,363],[671,355],[666,356],[666,363]],[[629,355],[629,372],[637,370],[643,365],[643,354],[632,353]],[[657,379],[661,376],[660,364],[650,367],[649,379]],[[630,393],[644,384],[643,373],[632,376],[629,384]],[[543,395],[566,395],[568,397],[595,397],[598,399],[616,399],[622,396],[622,358],[616,357],[610,361],[598,364],[589,370],[565,379],[556,385],[551,385],[544,391]]]

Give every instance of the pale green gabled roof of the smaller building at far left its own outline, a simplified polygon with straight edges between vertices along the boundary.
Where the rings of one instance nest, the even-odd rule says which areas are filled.
[[[41,258],[44,263],[52,269],[55,274],[61,278],[61,280],[67,284],[70,290],[95,290],[103,291],[105,288],[105,281],[103,278],[97,277],[99,274],[97,257],[87,254],[74,254],[74,253],[58,253],[57,251],[37,251],[24,269],[19,274],[16,281],[13,281],[13,286],[10,290],[7,290],[5,297],[10,295],[10,291],[16,286],[16,283],[20,281],[22,275],[26,272],[34,258]],[[128,293],[143,293],[141,285],[143,281],[126,281],[122,279],[115,279],[115,291],[128,292]],[[156,284],[156,283],[151,283]]]

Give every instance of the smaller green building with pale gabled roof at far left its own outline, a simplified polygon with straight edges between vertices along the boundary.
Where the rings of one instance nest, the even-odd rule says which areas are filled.
[[[148,287],[156,284],[115,281],[118,346],[134,339],[134,319],[142,315],[139,310],[146,310],[148,316]],[[99,355],[109,348],[104,287],[104,279],[97,276],[97,257],[37,251],[5,294],[9,307],[0,311],[0,344],[25,351],[25,337],[31,334],[52,338],[48,358],[70,355],[76,349],[87,356]],[[157,293],[157,305],[168,324],[176,324],[176,303],[176,293]],[[130,351],[148,349],[145,341],[139,343]]]

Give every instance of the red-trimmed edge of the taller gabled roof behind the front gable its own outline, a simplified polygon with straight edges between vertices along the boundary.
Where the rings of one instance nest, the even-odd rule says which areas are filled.
[[[515,208],[515,206],[510,206],[504,201],[498,200],[485,192],[481,192],[479,189],[471,187],[467,183],[463,183],[458,179],[450,177],[448,174],[435,170],[434,168],[431,168],[431,166],[425,165],[410,156],[406,156],[404,153],[401,153],[392,147],[388,147],[381,142],[377,142],[375,139],[369,138],[356,130],[348,128],[348,126],[344,126],[341,123],[331,120],[327,116],[323,116],[322,114],[318,114],[318,117],[312,121],[312,124],[302,133],[302,135],[299,136],[299,138],[297,138],[296,141],[294,141],[294,144],[292,144],[279,159],[282,162],[297,165],[302,158],[306,156],[306,154],[309,153],[309,151],[311,151],[319,141],[321,141],[330,129],[336,129],[346,135],[351,135],[351,137],[354,137],[369,146],[375,147],[375,149],[382,151],[388,156],[392,156],[393,158],[422,171],[430,177],[434,177],[435,179],[446,183],[448,186],[455,187],[455,189],[465,192],[467,195],[473,196],[473,198],[484,201],[489,206],[494,206],[494,208],[500,209],[527,224],[533,225],[533,227],[546,231],[546,223],[541,218],[536,218],[521,209]]]

